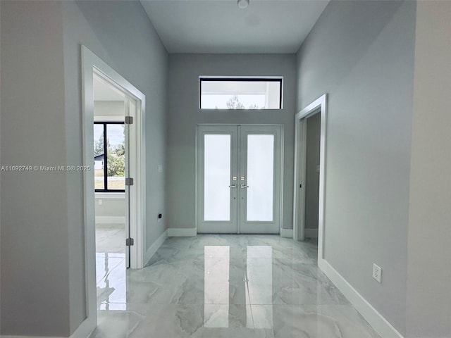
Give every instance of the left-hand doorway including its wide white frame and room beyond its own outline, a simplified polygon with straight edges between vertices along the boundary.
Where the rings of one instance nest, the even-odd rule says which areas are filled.
[[[108,284],[105,271],[118,260],[123,267],[118,271],[124,276],[126,267],[142,268],[144,264],[145,96],[86,46],[82,46],[82,93],[83,161],[92,168],[84,172],[84,323],[95,327],[97,287],[104,289],[104,296],[117,287]],[[97,229],[96,223],[100,225]],[[110,235],[116,232],[114,238],[105,231],[100,235],[102,225],[107,225]]]

